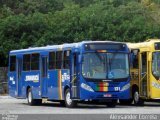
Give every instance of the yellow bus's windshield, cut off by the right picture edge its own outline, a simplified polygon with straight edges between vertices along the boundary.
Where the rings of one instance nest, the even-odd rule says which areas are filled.
[[[154,52],[152,58],[152,73],[158,79],[160,77],[160,52]]]

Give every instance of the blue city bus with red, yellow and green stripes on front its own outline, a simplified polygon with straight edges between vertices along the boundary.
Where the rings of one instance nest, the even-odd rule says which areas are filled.
[[[28,101],[103,102],[115,107],[130,98],[129,49],[125,43],[79,43],[13,50],[9,53],[9,94]]]

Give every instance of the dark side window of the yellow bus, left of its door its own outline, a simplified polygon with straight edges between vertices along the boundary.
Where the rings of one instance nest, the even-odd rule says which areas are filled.
[[[132,67],[138,69],[138,49],[132,50]]]

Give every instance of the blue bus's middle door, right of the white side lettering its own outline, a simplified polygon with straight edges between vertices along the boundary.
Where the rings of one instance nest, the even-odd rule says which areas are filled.
[[[48,57],[41,56],[41,93],[42,97],[47,97],[47,88],[48,88],[48,66],[47,66]]]

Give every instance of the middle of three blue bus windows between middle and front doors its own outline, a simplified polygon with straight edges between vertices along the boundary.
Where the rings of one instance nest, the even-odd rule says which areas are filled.
[[[56,69],[62,68],[62,51],[56,52]]]

